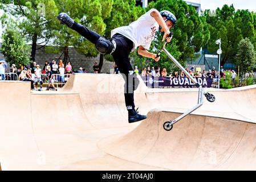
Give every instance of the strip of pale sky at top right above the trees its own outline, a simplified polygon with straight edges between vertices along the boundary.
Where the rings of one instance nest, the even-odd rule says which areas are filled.
[[[189,2],[201,3],[201,9],[216,10],[217,7],[222,7],[223,5],[233,4],[235,10],[238,9],[248,9],[249,11],[254,11],[256,13],[256,1],[255,0],[188,0]]]

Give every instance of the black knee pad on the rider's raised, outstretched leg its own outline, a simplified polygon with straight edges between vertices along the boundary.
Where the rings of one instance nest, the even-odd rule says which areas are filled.
[[[109,55],[115,51],[115,41],[107,40],[103,37],[100,37],[96,42],[96,49],[99,53],[103,55]]]

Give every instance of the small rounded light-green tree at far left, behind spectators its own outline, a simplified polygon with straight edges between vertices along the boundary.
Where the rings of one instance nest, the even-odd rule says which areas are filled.
[[[30,46],[26,44],[19,31],[7,28],[2,35],[3,43],[1,53],[6,62],[15,65],[27,65],[29,63]]]

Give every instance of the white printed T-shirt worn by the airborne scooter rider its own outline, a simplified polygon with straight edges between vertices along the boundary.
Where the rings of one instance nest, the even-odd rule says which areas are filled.
[[[132,40],[132,51],[138,46],[143,46],[145,49],[149,49],[152,40],[155,38],[156,31],[159,30],[159,24],[156,22],[155,18],[151,16],[153,10],[155,9],[149,10],[135,22],[129,24],[129,26],[115,28],[111,31],[111,38],[116,33],[119,33]]]

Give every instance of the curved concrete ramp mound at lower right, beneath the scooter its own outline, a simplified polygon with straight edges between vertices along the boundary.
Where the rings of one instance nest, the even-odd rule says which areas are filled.
[[[178,115],[152,110],[131,133],[99,146],[116,158],[161,169],[256,169],[255,123],[190,114],[165,131],[163,123]]]

